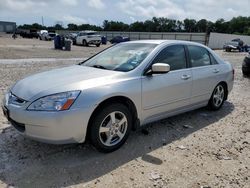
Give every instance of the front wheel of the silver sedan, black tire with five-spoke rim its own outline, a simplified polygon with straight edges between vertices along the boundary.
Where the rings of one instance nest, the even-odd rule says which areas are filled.
[[[94,116],[90,126],[89,138],[92,145],[98,151],[108,153],[119,149],[127,140],[132,127],[132,116],[123,104],[111,104]]]

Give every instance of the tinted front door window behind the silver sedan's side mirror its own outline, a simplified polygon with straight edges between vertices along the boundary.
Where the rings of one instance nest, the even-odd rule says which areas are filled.
[[[186,68],[186,54],[184,46],[173,45],[163,49],[153,60],[154,63],[170,65],[170,71]]]

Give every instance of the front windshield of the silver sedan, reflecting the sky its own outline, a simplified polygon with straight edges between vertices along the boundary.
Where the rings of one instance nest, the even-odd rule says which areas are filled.
[[[156,44],[123,43],[109,48],[82,65],[128,72],[135,69],[156,47]]]

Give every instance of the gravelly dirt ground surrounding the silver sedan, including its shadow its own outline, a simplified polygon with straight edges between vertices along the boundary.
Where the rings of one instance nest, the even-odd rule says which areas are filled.
[[[15,81],[67,66],[107,47],[55,51],[51,42],[0,37],[0,98]],[[250,187],[250,79],[245,54],[217,51],[235,70],[228,101],[132,132],[110,154],[89,144],[48,145],[20,136],[0,113],[0,187]],[[32,59],[20,62],[5,59]],[[71,59],[63,59],[71,58]],[[148,134],[147,134],[148,133]]]

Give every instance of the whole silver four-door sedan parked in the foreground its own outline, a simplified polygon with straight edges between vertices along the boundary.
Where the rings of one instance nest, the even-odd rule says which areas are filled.
[[[26,137],[54,144],[88,138],[111,152],[137,126],[203,106],[220,109],[233,79],[231,64],[204,45],[131,41],[79,65],[24,78],[2,104]]]

